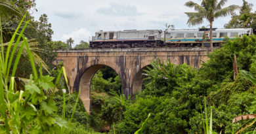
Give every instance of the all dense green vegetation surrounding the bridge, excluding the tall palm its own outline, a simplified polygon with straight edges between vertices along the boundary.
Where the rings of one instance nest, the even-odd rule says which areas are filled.
[[[63,63],[52,65],[53,50],[70,49],[74,40],[52,41],[47,15],[34,20],[26,14],[35,8],[33,0],[4,0],[0,7],[0,133],[135,133],[144,120],[143,133],[205,133],[211,112],[217,133],[256,127],[255,119],[232,123],[256,112],[256,81],[237,74],[234,66],[237,61],[238,69],[256,75],[256,35],[226,39],[200,69],[152,61],[142,92],[133,99],[125,99],[117,73],[102,67],[92,80],[89,115],[78,94],[70,93]],[[232,14],[225,27],[255,27],[251,7],[244,1],[240,14]],[[74,48],[88,47],[81,41]]]

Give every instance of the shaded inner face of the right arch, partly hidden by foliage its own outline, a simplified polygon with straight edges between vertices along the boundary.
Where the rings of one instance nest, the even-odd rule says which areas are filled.
[[[137,74],[135,74],[135,77],[133,78],[133,84],[131,85],[133,89],[132,94],[135,94],[136,92],[142,92],[143,80],[146,78],[145,70],[148,70],[148,67],[152,68],[152,65],[145,65]]]

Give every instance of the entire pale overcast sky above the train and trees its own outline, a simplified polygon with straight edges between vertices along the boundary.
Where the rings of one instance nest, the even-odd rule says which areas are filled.
[[[54,41],[66,41],[72,37],[75,44],[87,41],[95,31],[117,31],[123,29],[164,29],[173,24],[175,29],[198,28],[209,25],[206,21],[196,27],[188,27],[184,12],[193,12],[184,6],[188,0],[36,0],[38,20],[47,14],[54,31]],[[192,0],[200,3],[200,0]],[[256,0],[253,3],[256,10]],[[228,0],[228,5],[242,5],[242,0]],[[221,28],[230,16],[215,20],[213,27]]]

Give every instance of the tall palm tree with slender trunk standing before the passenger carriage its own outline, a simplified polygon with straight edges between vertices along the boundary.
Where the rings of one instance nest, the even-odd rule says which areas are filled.
[[[203,18],[210,23],[210,44],[211,44],[211,52],[213,52],[213,21],[215,18],[227,16],[228,14],[232,14],[234,10],[238,9],[237,5],[230,5],[228,7],[223,8],[224,4],[227,0],[202,0],[201,5],[194,3],[193,1],[188,1],[185,3],[186,7],[193,8],[197,12],[185,12],[188,16],[188,25],[198,25],[203,23]]]

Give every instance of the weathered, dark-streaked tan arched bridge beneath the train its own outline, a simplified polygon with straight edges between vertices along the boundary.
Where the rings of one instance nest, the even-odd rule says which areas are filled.
[[[207,61],[207,48],[104,48],[85,50],[58,50],[57,60],[64,67],[72,91],[81,90],[80,98],[87,112],[91,111],[90,85],[96,71],[107,65],[112,67],[121,78],[123,93],[132,95],[141,91],[142,68],[150,65],[154,59],[169,59],[176,65],[187,63],[200,67]]]

